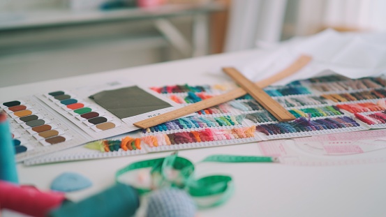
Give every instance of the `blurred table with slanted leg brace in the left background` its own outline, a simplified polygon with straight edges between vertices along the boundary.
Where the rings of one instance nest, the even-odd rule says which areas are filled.
[[[208,15],[221,10],[209,1],[0,13],[0,87],[208,54]]]

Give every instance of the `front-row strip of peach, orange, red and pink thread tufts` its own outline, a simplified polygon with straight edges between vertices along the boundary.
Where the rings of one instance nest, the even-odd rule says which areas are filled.
[[[156,134],[142,137],[142,141],[149,147],[172,144],[186,144],[193,142],[213,142],[221,140],[235,140],[254,137],[255,126],[232,129],[194,130],[190,132]]]

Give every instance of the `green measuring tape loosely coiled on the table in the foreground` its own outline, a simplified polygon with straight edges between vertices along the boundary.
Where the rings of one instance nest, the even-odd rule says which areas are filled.
[[[199,163],[216,162],[216,163],[275,163],[279,162],[278,158],[265,156],[232,156],[232,155],[211,155],[201,160]],[[223,204],[230,198],[234,191],[232,177],[226,175],[213,175],[194,178],[194,165],[190,160],[177,156],[177,152],[166,158],[156,158],[152,160],[143,160],[131,163],[126,167],[118,170],[115,174],[115,181],[126,172],[151,168],[151,178],[155,188],[181,188],[189,193],[199,208],[216,207]],[[170,174],[175,170],[177,176],[172,177]],[[150,188],[137,188],[142,195],[151,191]],[[204,197],[216,196],[212,202],[200,202]]]

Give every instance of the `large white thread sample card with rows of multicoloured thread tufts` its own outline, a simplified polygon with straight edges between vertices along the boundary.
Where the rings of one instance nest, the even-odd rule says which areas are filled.
[[[294,114],[297,117],[295,121],[277,121],[251,96],[246,95],[198,111],[194,116],[142,130],[136,135],[141,137],[142,152],[138,154],[385,128],[385,84],[383,77],[351,80],[329,75],[285,86],[267,87],[265,91],[269,96]],[[184,106],[235,87],[233,83],[201,86],[185,84],[151,87],[151,90]],[[120,145],[126,143],[105,147],[102,151],[77,147],[82,151],[68,150],[66,153],[52,154],[26,163],[63,161],[71,156],[77,156],[77,159],[97,158],[103,157],[102,152],[104,156],[107,153],[110,156],[125,156],[138,152],[138,149],[125,151]],[[133,144],[130,147],[133,148]]]

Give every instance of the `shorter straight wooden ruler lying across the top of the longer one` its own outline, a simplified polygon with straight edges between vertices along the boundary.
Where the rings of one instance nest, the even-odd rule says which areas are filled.
[[[293,121],[295,116],[285,110],[278,102],[269,96],[263,89],[253,84],[248,78],[244,77],[236,68],[223,68],[225,74],[232,77],[242,89],[249,93],[262,107],[268,110],[279,121]]]

